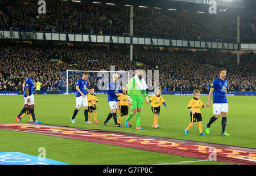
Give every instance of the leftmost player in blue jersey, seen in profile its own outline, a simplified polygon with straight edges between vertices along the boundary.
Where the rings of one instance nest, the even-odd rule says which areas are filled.
[[[26,111],[30,111],[34,123],[41,123],[35,119],[35,101],[34,101],[34,81],[32,78],[35,78],[35,71],[30,70],[28,78],[25,81],[25,91],[23,93],[24,97],[24,108],[20,111],[19,115],[15,117],[15,120],[19,123],[21,118],[20,116]]]

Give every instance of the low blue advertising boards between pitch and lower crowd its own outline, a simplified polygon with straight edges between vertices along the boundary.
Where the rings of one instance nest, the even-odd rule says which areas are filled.
[[[106,91],[96,91],[96,94],[106,94]],[[154,92],[147,92],[148,95],[154,95]],[[51,95],[52,91],[40,91],[40,95]],[[67,94],[66,91],[55,91],[54,94]],[[76,94],[75,91],[68,91],[68,94]],[[193,95],[193,92],[182,92],[182,91],[164,91],[163,95]],[[22,91],[0,91],[1,95],[23,95]],[[36,93],[35,93],[36,95]],[[208,95],[207,93],[201,93],[201,95]],[[256,91],[228,91],[228,96],[256,96]]]

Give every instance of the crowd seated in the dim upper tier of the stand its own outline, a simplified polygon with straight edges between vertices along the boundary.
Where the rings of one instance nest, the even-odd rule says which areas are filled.
[[[47,13],[38,14],[38,1],[0,2],[0,29],[123,35],[130,33],[130,9],[67,1],[46,1]],[[1,12],[0,12],[1,14]],[[255,16],[241,16],[240,41],[256,42]],[[158,10],[135,7],[134,36],[237,41],[237,18],[231,14]]]

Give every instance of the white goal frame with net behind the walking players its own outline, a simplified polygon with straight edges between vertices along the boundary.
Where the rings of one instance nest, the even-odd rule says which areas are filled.
[[[128,71],[94,71],[94,70],[67,70],[61,73],[61,81],[66,84],[65,94],[69,94],[70,88],[74,89],[76,81],[82,78],[82,73],[88,72],[87,87],[94,88],[95,91],[106,91],[108,84],[112,81],[112,75],[117,73],[119,76],[118,82],[121,86],[127,85],[129,81]],[[65,74],[65,76],[64,76]],[[69,87],[70,86],[70,87]],[[72,87],[73,86],[73,87]],[[74,90],[75,91],[75,90]]]

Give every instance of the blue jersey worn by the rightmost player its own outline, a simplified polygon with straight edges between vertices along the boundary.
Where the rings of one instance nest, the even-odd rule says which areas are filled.
[[[226,89],[228,88],[228,81],[220,78],[214,79],[210,87],[214,88],[212,100],[213,103],[227,103]]]

